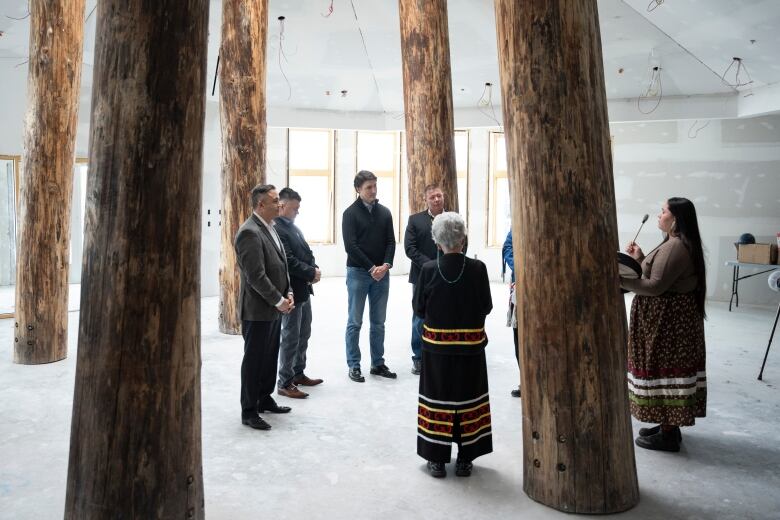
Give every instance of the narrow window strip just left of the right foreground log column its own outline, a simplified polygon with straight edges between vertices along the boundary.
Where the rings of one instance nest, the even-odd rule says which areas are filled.
[[[506,167],[506,141],[502,132],[490,134],[490,176],[488,187],[488,243],[501,246],[512,226],[509,206],[509,179]]]

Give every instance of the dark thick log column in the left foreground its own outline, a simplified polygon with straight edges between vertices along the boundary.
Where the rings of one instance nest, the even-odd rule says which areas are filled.
[[[208,0],[101,0],[65,518],[203,518]]]

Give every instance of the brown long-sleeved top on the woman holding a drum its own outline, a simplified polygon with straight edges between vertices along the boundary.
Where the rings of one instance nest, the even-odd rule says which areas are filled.
[[[620,286],[641,296],[659,296],[666,292],[689,293],[696,289],[696,282],[690,253],[682,240],[669,237],[642,261],[642,278],[621,278]]]

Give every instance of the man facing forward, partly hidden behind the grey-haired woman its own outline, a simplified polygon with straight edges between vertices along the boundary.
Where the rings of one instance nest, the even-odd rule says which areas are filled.
[[[425,187],[425,211],[409,215],[404,234],[404,250],[406,256],[412,261],[409,269],[409,283],[414,284],[420,277],[420,269],[425,262],[436,258],[436,244],[431,236],[431,224],[433,218],[444,211],[444,192],[436,184]],[[422,362],[422,318],[412,312],[412,374],[420,374]]]

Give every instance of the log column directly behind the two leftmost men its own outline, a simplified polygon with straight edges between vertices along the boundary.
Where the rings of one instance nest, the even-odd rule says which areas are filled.
[[[268,0],[222,1],[219,51],[222,125],[222,248],[219,330],[240,334],[240,275],[233,239],[252,214],[250,192],[265,182]],[[280,188],[281,189],[281,188]]]

